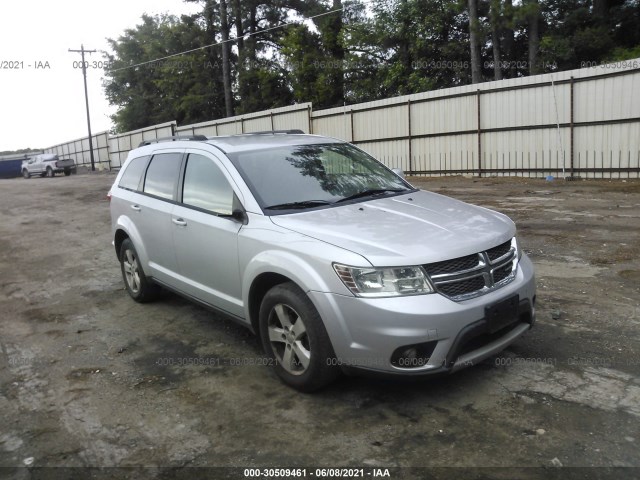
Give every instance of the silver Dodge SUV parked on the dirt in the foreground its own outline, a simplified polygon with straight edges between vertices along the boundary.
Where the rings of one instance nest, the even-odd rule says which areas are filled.
[[[125,286],[236,319],[286,384],[453,372],[533,326],[533,266],[506,216],[333,138],[164,140],[131,151],[109,192]]]

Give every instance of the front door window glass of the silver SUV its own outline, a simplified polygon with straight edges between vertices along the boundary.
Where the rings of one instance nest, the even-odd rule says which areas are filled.
[[[182,203],[220,215],[231,215],[233,189],[212,159],[203,155],[189,155]]]

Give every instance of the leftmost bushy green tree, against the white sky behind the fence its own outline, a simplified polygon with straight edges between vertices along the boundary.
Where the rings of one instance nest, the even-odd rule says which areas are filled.
[[[217,78],[220,60],[215,51],[171,56],[207,44],[196,17],[142,17],[142,23],[118,39],[109,39],[111,68],[104,88],[116,131],[176,120],[195,123],[224,112],[223,91]],[[168,58],[166,58],[168,57]]]

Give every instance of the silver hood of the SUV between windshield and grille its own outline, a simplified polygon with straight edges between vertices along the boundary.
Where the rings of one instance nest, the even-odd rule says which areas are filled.
[[[375,266],[421,265],[487,250],[515,235],[505,215],[436,193],[272,216],[280,227],[345,248]]]

